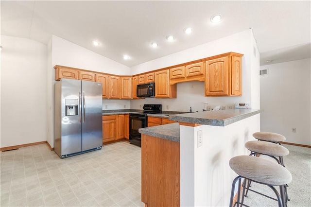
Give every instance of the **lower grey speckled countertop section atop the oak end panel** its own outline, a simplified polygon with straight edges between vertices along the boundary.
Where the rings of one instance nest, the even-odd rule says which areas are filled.
[[[180,140],[180,126],[179,123],[170,123],[159,126],[152,126],[138,129],[141,134],[168,139],[179,142]]]

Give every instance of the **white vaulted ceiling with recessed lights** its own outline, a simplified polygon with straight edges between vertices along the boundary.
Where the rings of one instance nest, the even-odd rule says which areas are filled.
[[[44,44],[56,35],[128,67],[249,28],[260,65],[311,57],[311,1],[2,0],[0,6],[1,35]],[[212,23],[217,14],[222,21]],[[189,35],[187,27],[193,29]],[[93,40],[101,44],[95,47]]]

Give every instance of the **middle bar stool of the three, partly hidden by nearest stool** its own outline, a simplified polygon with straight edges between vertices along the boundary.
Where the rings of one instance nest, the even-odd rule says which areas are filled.
[[[245,147],[251,151],[250,155],[267,155],[270,156],[272,158],[274,158],[276,160],[276,162],[280,165],[284,166],[284,161],[283,161],[283,156],[288,155],[290,152],[288,151],[288,149],[286,149],[285,147],[272,143],[272,142],[268,142],[268,141],[248,141],[245,143]],[[276,158],[278,157],[278,159]],[[247,197],[247,193],[249,187],[250,187],[251,182],[248,180],[247,182],[247,190],[245,193],[245,197]],[[285,203],[287,204],[287,201],[290,201],[290,199],[288,198],[288,194],[287,194],[287,189],[286,187],[288,187],[288,185],[285,185],[284,188],[284,193],[285,193]],[[251,190],[254,191],[254,190]],[[255,191],[254,191],[255,192]]]

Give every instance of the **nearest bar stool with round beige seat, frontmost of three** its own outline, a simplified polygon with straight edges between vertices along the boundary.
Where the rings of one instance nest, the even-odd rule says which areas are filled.
[[[283,166],[273,162],[271,160],[267,160],[264,158],[260,158],[257,156],[248,156],[248,155],[240,155],[232,157],[229,161],[230,168],[237,173],[237,176],[232,182],[231,188],[231,197],[229,207],[235,206],[235,204],[245,206],[244,202],[244,193],[245,193],[245,180],[243,182],[242,188],[242,200],[240,202],[240,194],[241,194],[241,179],[245,178],[251,180],[253,182],[263,184],[271,188],[276,194],[276,199],[264,194],[260,194],[262,196],[271,198],[278,202],[279,207],[286,206],[284,201],[284,185],[290,183],[292,181],[292,174]],[[236,183],[238,183],[238,197],[237,201],[233,205],[233,197]],[[280,194],[277,192],[274,186],[279,186]]]

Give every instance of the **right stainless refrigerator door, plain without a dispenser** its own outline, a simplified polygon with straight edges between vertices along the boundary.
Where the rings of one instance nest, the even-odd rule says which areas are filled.
[[[82,81],[82,151],[103,146],[102,84]]]

